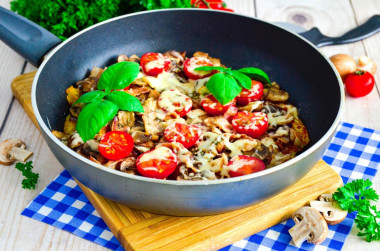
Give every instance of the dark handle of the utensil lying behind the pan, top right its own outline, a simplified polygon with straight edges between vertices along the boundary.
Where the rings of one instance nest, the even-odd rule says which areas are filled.
[[[358,27],[350,30],[349,32],[345,33],[344,35],[340,37],[327,37],[320,33],[320,36],[314,36],[314,37],[318,37],[318,39],[316,39],[316,41],[313,41],[313,43],[318,47],[322,47],[326,45],[348,44],[348,43],[357,42],[367,37],[370,37],[379,31],[380,31],[380,15],[375,15],[371,17],[370,19],[368,19],[367,22],[365,22],[364,24],[359,25]],[[316,32],[316,31],[313,31],[312,29],[310,30],[310,32]]]

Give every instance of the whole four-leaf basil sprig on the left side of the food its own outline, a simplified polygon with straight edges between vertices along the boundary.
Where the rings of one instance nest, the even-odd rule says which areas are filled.
[[[76,130],[83,142],[94,138],[119,110],[144,112],[140,101],[123,91],[140,72],[135,62],[120,62],[108,67],[101,75],[98,90],[87,92],[74,103],[86,103],[79,113]]]

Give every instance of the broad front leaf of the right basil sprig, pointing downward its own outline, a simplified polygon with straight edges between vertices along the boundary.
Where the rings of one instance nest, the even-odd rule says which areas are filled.
[[[241,92],[241,86],[236,80],[225,73],[214,74],[206,87],[222,105],[233,100]]]

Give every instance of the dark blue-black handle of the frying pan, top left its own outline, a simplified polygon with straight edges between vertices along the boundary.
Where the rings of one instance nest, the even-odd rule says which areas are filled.
[[[43,56],[61,42],[41,26],[3,7],[0,39],[34,66],[39,66]]]

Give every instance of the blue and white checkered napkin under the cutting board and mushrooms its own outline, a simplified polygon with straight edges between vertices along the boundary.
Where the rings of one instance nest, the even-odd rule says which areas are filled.
[[[372,180],[380,167],[380,131],[341,123],[323,159],[342,176],[344,183],[353,179]],[[67,171],[63,171],[21,214],[104,247],[123,249]],[[298,249],[290,245],[288,230],[294,222],[288,220],[222,250],[341,250],[354,218],[354,214],[349,214],[340,224],[329,226],[327,239],[318,246],[304,243]]]

